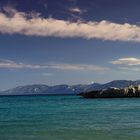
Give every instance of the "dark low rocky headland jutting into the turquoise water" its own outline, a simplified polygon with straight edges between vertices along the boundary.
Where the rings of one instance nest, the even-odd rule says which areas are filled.
[[[109,87],[102,90],[93,90],[83,92],[84,98],[124,98],[124,97],[140,97],[140,85],[131,85],[126,88]]]

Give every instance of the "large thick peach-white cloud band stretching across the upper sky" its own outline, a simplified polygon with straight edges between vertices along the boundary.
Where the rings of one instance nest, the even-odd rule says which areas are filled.
[[[118,24],[106,20],[100,22],[71,22],[43,18],[39,13],[27,14],[15,9],[5,9],[0,12],[0,33],[2,34],[140,42],[140,27],[129,23]],[[78,9],[73,10],[78,12]]]

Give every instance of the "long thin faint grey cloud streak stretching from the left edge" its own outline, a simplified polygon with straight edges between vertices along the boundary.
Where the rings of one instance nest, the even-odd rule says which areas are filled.
[[[33,65],[17,63],[11,60],[0,60],[0,68],[7,69],[58,69],[58,70],[69,70],[69,71],[106,71],[108,68],[104,68],[97,65],[87,64],[66,64],[66,63],[49,63],[46,65]],[[48,76],[48,73],[46,73]]]

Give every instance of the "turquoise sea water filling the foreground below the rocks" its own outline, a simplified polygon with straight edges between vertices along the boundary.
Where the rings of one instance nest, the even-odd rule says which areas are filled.
[[[0,140],[139,140],[140,98],[0,97]]]

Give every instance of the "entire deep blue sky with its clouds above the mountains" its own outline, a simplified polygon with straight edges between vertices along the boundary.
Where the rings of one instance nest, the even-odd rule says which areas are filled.
[[[0,0],[0,90],[140,79],[139,0]]]

